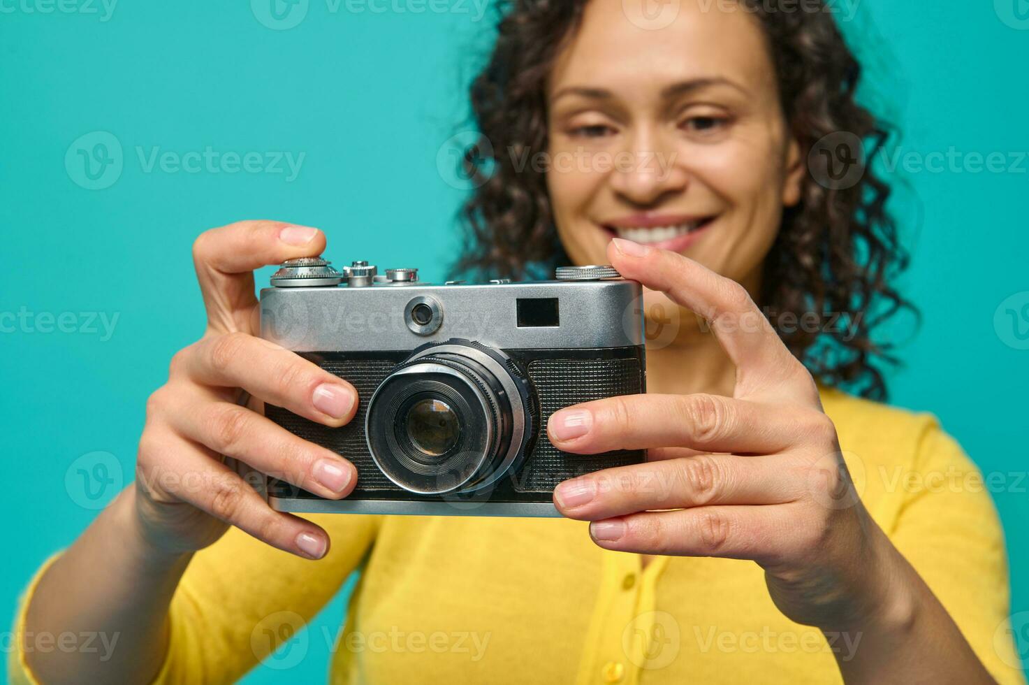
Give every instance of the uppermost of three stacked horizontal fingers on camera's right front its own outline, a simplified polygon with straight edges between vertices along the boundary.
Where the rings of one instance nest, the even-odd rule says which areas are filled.
[[[771,454],[821,423],[828,423],[821,412],[717,395],[632,395],[557,411],[546,434],[555,447],[576,454],[651,447]]]

